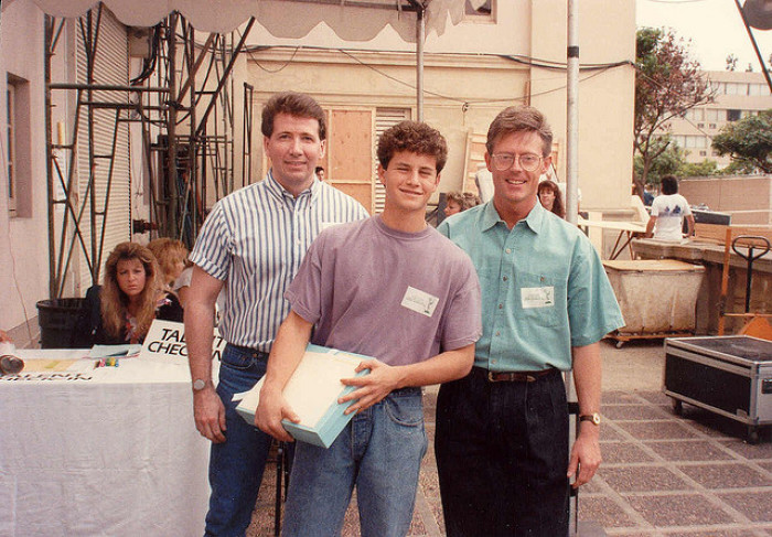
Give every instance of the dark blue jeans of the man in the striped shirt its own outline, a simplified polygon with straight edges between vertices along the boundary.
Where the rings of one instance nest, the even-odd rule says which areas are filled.
[[[266,374],[268,355],[227,345],[219,365],[217,394],[225,405],[224,443],[210,454],[207,536],[243,536],[255,511],[271,438],[236,412],[233,395],[247,391]]]

